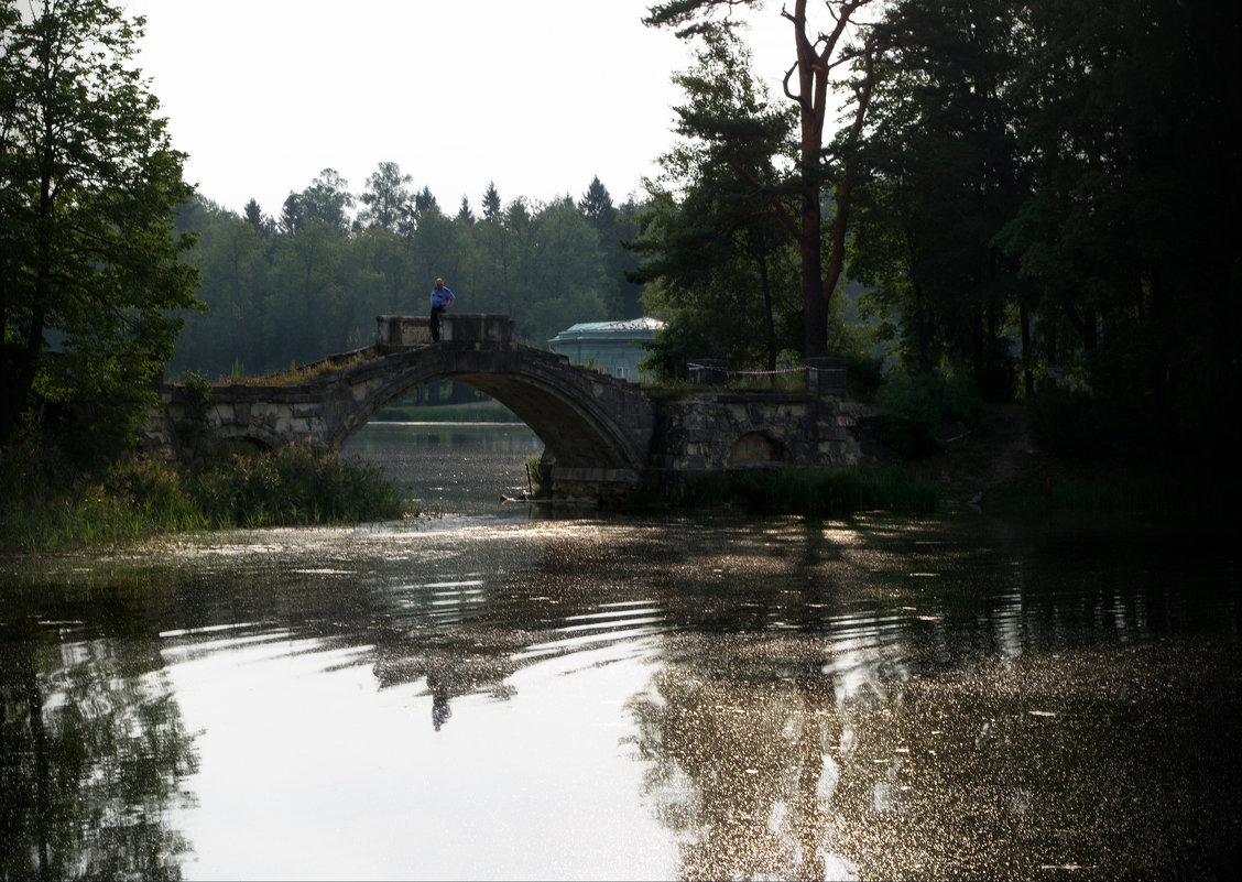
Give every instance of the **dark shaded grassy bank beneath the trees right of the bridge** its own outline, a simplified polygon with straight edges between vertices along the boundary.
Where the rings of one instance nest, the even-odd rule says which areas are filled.
[[[928,514],[969,506],[1016,519],[1144,519],[1225,524],[1240,480],[1220,465],[1058,456],[1032,437],[1021,405],[985,407],[969,427],[943,426],[924,452],[888,465],[713,475],[640,502],[740,508],[755,514]]]

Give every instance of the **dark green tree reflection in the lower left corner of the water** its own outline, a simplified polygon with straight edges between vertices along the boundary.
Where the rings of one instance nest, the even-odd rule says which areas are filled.
[[[116,624],[71,640],[73,622],[0,624],[4,878],[181,877],[189,843],[163,817],[193,799],[193,735],[158,635]]]

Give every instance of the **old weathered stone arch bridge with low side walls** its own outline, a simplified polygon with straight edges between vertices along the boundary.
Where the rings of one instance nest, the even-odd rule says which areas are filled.
[[[381,316],[378,324],[374,345],[286,375],[160,386],[144,445],[186,460],[298,440],[340,448],[391,401],[452,379],[491,395],[539,436],[554,497],[623,496],[652,473],[842,465],[861,453],[861,424],[838,394],[704,388],[656,402],[636,384],[514,340],[507,316],[446,316],[438,343],[426,318]]]

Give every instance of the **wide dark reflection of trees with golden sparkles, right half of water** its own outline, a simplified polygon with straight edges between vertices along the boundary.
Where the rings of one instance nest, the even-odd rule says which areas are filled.
[[[661,593],[676,625],[630,709],[682,877],[1232,867],[1237,641],[1143,634],[1180,629],[1182,600],[1115,559],[1007,569],[989,553],[928,594],[919,580],[949,565],[928,549],[899,568],[868,550],[869,579],[857,552],[845,573],[804,558],[814,579],[738,557],[705,590]]]

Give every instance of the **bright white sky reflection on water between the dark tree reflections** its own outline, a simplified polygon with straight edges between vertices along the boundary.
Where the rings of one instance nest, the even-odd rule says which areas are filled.
[[[380,688],[370,647],[314,642],[170,665],[201,732],[197,805],[173,821],[195,843],[188,877],[676,875],[656,819],[617,799],[641,788],[619,747],[623,698],[650,676],[641,647],[529,665],[505,699],[456,699],[437,730],[425,681]]]

